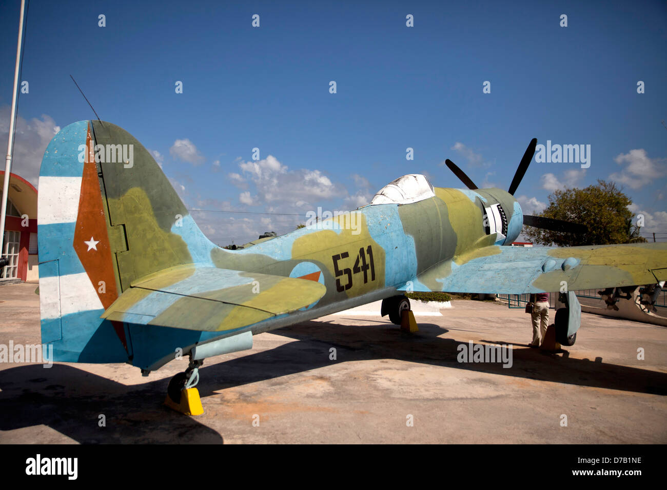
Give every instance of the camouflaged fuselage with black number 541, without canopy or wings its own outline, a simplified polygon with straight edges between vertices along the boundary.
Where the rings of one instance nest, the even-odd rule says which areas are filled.
[[[363,305],[407,289],[430,267],[479,247],[511,243],[520,233],[521,209],[500,189],[435,188],[415,203],[368,205],[323,219],[269,241],[235,251],[211,251],[217,267],[323,283],[327,292],[307,309],[269,319],[266,331]],[[500,205],[502,223],[489,226],[488,209]],[[502,233],[504,231],[504,233]]]

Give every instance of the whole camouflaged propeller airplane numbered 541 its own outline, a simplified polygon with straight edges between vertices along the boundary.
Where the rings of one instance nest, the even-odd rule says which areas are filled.
[[[524,224],[510,185],[433,187],[404,175],[369,205],[243,249],[209,241],[145,149],[106,121],[79,121],[49,143],[39,173],[41,337],[53,361],[129,363],[149,375],[189,356],[167,397],[199,381],[207,357],[251,349],[258,333],[382,300],[399,323],[405,291],[540,293],[667,278],[667,243],[512,247]],[[350,226],[350,223],[357,226]],[[572,331],[557,332],[567,341]]]

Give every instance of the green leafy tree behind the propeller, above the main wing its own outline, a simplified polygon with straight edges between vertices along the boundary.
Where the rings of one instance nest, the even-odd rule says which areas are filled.
[[[554,191],[548,199],[549,205],[540,216],[586,225],[588,233],[524,227],[525,235],[534,243],[573,247],[646,241],[640,237],[639,227],[633,224],[635,215],[628,209],[632,201],[614,182],[598,180],[598,185],[589,185],[586,189]]]

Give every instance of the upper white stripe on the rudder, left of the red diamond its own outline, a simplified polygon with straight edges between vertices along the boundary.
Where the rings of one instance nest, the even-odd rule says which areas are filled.
[[[39,177],[37,225],[75,223],[79,213],[81,177]]]

